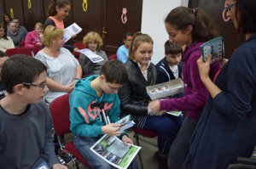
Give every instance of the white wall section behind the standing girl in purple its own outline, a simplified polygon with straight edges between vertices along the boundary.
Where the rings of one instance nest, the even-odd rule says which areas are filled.
[[[152,62],[157,64],[164,57],[164,44],[168,40],[165,28],[167,14],[178,6],[188,6],[189,0],[143,0],[142,32],[154,40]]]

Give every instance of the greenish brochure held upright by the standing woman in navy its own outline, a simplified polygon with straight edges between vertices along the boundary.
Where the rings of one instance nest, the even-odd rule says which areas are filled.
[[[216,37],[201,45],[201,54],[204,62],[208,54],[212,54],[211,64],[224,58],[224,38]]]

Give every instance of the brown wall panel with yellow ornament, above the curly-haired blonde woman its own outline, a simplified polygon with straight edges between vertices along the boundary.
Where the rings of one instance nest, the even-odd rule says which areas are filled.
[[[83,0],[79,0],[73,3],[73,22],[83,29],[73,40],[82,41],[89,31],[96,31],[102,36],[102,27],[105,25],[105,2],[105,0],[87,0],[86,4]]]

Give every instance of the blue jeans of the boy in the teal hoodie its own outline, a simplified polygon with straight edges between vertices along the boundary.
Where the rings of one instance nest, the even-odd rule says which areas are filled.
[[[73,143],[76,149],[79,150],[80,154],[84,157],[84,160],[88,162],[90,168],[93,169],[112,169],[113,166],[108,164],[108,162],[102,160],[99,156],[90,150],[90,147],[101,138],[102,136],[96,138],[85,138],[76,134],[73,134]],[[131,162],[129,169],[137,169],[136,158]]]

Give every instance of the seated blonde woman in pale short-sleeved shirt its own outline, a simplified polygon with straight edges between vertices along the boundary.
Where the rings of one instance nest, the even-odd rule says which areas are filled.
[[[44,30],[44,48],[35,58],[47,67],[47,87],[45,100],[51,103],[63,94],[71,93],[74,84],[82,76],[81,65],[67,48],[63,47],[63,30],[49,25]]]

